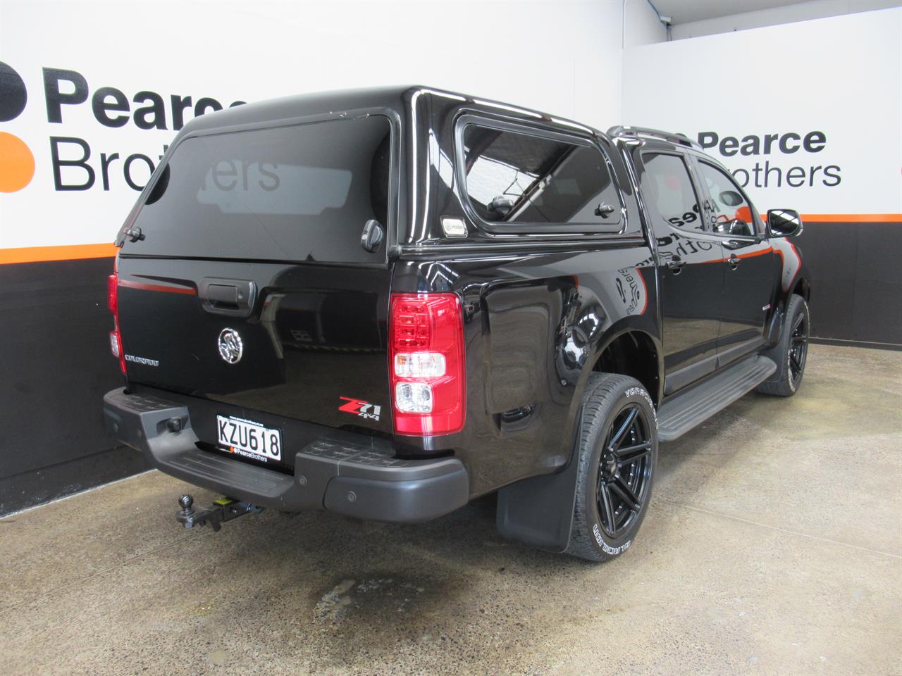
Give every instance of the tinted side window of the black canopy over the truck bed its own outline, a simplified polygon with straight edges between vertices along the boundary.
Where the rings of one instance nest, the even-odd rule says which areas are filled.
[[[591,146],[468,124],[466,194],[498,224],[617,224],[621,202]]]

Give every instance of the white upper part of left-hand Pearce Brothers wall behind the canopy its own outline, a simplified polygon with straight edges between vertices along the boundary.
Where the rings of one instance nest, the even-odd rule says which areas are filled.
[[[4,2],[0,61],[23,78],[28,103],[22,114],[0,122],[0,132],[31,149],[35,173],[26,187],[0,194],[0,251],[110,242],[137,195],[126,185],[124,160],[135,153],[158,160],[174,135],[172,95],[195,103],[211,96],[229,105],[324,89],[425,84],[606,128],[621,117],[622,45],[664,39],[643,5]],[[44,68],[77,71],[91,96],[99,87],[115,87],[130,102],[143,90],[160,94],[167,128],[139,129],[133,118],[109,128],[97,122],[90,97],[62,106],[61,123],[51,123]],[[87,142],[93,187],[55,189],[51,137]],[[58,148],[63,159],[82,153],[73,143]],[[99,176],[101,153],[119,154],[109,165],[108,189]],[[143,159],[130,169],[137,184],[149,176]],[[84,169],[61,171],[67,185],[87,177]]]

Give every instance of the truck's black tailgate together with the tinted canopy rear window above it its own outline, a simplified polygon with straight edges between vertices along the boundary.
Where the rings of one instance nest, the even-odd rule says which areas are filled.
[[[391,232],[392,135],[352,115],[179,142],[119,257],[129,381],[391,432],[387,242],[361,233]]]

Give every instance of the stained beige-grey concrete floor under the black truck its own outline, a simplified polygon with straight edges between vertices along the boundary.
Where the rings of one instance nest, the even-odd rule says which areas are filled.
[[[327,514],[180,530],[158,472],[0,520],[6,674],[902,673],[902,353],[815,345],[662,447],[640,536],[592,565]],[[209,494],[194,491],[198,502]]]

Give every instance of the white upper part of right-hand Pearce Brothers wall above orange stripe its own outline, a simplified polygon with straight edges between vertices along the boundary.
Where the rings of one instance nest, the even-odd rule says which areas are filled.
[[[698,132],[716,132],[739,142],[750,135],[823,132],[824,146],[816,152],[709,152],[741,178],[749,172],[748,190],[761,210],[898,215],[902,9],[627,50],[623,120],[694,139]],[[729,145],[725,151],[733,152]],[[755,166],[766,162],[781,170],[780,187],[776,172],[768,187],[760,187],[760,172],[759,187],[753,185]],[[796,167],[790,183],[803,185],[787,185],[787,171]],[[827,167],[838,181],[826,178]]]

